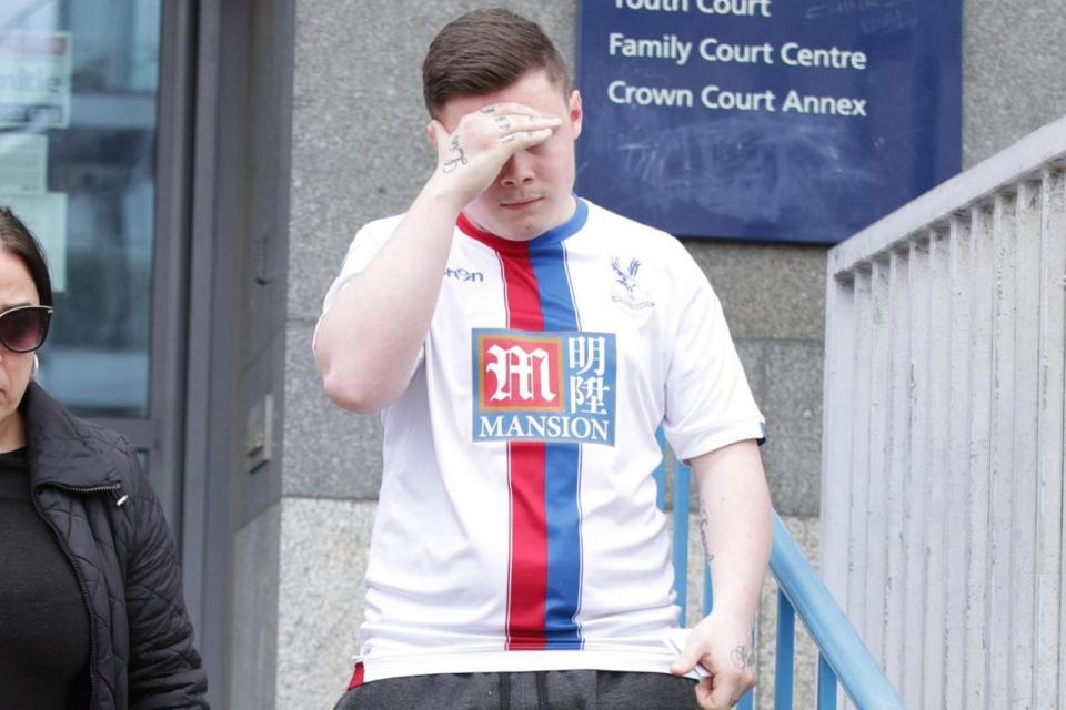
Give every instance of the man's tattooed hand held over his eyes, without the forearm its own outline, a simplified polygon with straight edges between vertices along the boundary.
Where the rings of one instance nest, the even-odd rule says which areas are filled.
[[[517,151],[552,136],[563,120],[543,116],[521,103],[492,103],[460,119],[452,133],[439,120],[426,131],[436,144],[436,171],[430,179],[462,209],[492,185]]]

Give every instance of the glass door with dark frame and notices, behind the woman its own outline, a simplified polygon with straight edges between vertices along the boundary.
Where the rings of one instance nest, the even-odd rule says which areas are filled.
[[[0,4],[0,203],[42,242],[56,291],[38,382],[130,438],[179,532],[187,139],[160,106],[188,88],[160,88],[161,38],[184,36],[165,4]]]

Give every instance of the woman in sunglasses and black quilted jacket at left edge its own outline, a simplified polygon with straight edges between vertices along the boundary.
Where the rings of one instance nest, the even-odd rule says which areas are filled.
[[[0,707],[207,708],[133,448],[33,383],[51,306],[39,244],[0,207]]]

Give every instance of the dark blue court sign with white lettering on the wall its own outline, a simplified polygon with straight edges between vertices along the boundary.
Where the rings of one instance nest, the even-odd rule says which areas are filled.
[[[836,243],[958,172],[961,0],[582,0],[577,192]]]

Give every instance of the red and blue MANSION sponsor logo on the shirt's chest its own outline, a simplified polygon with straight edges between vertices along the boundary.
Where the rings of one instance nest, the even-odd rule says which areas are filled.
[[[614,445],[612,333],[472,332],[474,440]]]

